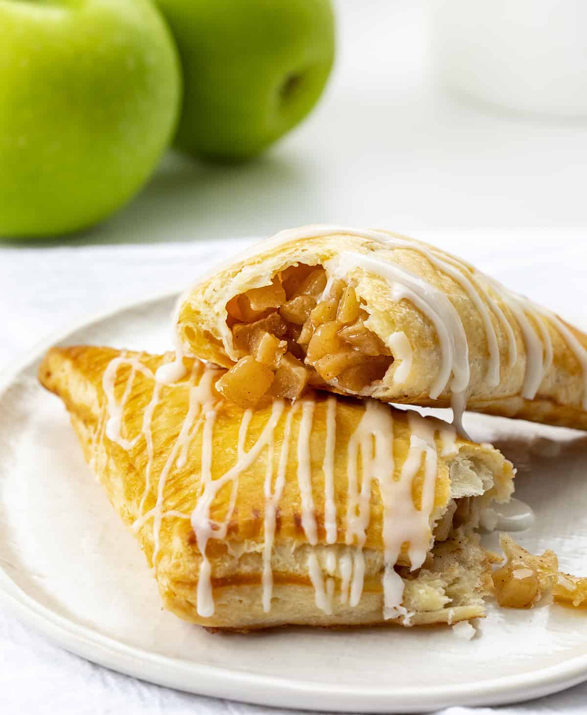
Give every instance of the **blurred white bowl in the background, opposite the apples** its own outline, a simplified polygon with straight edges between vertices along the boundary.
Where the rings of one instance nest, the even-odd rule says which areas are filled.
[[[430,0],[435,69],[453,91],[587,117],[587,0]]]

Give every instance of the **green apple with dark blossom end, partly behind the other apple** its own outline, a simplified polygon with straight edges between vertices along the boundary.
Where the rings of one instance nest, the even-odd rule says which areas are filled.
[[[258,154],[317,102],[334,57],[330,0],[157,0],[184,74],[179,149]]]

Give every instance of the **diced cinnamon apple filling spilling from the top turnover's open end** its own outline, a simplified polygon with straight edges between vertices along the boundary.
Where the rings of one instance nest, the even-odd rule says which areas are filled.
[[[271,285],[228,302],[227,325],[240,359],[218,381],[225,398],[249,408],[263,395],[296,400],[309,386],[360,393],[381,380],[393,356],[365,326],[352,285],[304,264]]]

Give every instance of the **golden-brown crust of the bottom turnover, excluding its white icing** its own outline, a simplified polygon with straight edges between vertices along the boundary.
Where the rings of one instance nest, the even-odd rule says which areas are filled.
[[[314,408],[310,447],[307,450],[310,455],[313,516],[317,527],[315,544],[310,543],[305,531],[304,510],[300,505],[297,445],[302,408],[284,404],[282,419],[275,428],[274,465],[284,440],[285,418],[288,413],[297,411],[292,415],[285,488],[275,519],[271,558],[272,607],[268,612],[262,610],[262,550],[265,541],[263,485],[267,473],[267,450],[264,450],[239,475],[234,509],[227,521],[225,537],[210,538],[207,543],[205,553],[212,565],[215,609],[213,614],[205,617],[198,613],[197,587],[202,552],[189,515],[202,499],[204,489],[202,444],[210,405],[192,415],[188,438],[183,443],[183,462],[182,450],[177,450],[177,445],[192,405],[190,395],[193,396],[193,390],[202,387],[204,375],[211,385],[209,393],[210,390],[213,393],[214,381],[222,375],[222,370],[205,369],[197,361],[186,359],[188,375],[183,380],[174,385],[156,385],[154,373],[171,358],[171,355],[122,353],[98,347],[54,348],[46,355],[39,371],[41,383],[59,395],[69,410],[84,456],[107,490],[114,508],[127,526],[134,525],[134,533],[139,538],[147,562],[149,566],[154,566],[167,608],[194,623],[221,628],[250,629],[285,623],[335,626],[383,622],[384,514],[380,490],[376,485],[373,485],[370,495],[369,521],[362,551],[365,581],[360,601],[357,606],[351,607],[348,603],[340,603],[336,597],[331,613],[325,613],[323,608],[317,606],[308,566],[310,553],[312,558],[317,559],[325,576],[327,568],[331,568],[328,564],[332,564],[329,553],[335,554],[337,566],[331,576],[336,582],[335,593],[338,594],[342,588],[340,556],[355,549],[355,546],[345,543],[347,445],[366,410],[365,405],[356,400],[329,398],[325,393],[311,398]],[[113,365],[112,361],[117,360],[119,365],[113,373],[109,368]],[[108,374],[112,378],[112,394],[117,405],[122,405],[126,393],[119,428],[123,446],[117,443],[117,438],[113,440],[107,436],[112,428],[107,418],[113,413],[112,405],[108,413],[108,393],[104,390]],[[132,381],[129,380],[131,374]],[[154,403],[156,389],[159,395]],[[199,393],[200,398],[202,395],[204,393]],[[333,481],[337,513],[334,543],[326,543],[325,473],[322,470],[329,400],[335,401],[337,428]],[[152,408],[153,404],[146,430],[145,415],[149,414],[149,405]],[[246,419],[250,422],[242,448],[252,450],[273,409],[274,403],[267,400],[255,411],[247,411]],[[410,418],[383,405],[379,409],[388,410],[393,415],[393,456],[397,477],[410,450]],[[237,461],[245,411],[225,402],[216,404],[214,413],[212,478],[219,478]],[[199,423],[198,415],[202,417]],[[425,420],[425,423],[428,425],[430,421]],[[483,491],[501,500],[508,498],[512,490],[513,469],[497,450],[454,438],[453,453],[443,456],[445,445],[439,431],[443,423],[435,421],[432,424],[438,450],[438,470],[434,478],[430,528],[434,528],[435,522],[441,521],[443,514],[450,511],[451,505],[454,505],[453,498]],[[147,432],[151,440],[150,448]],[[421,504],[424,498],[424,467],[425,464],[420,465],[413,480],[411,498],[415,505]],[[209,511],[215,523],[221,524],[227,516],[230,501],[230,488],[219,490]],[[397,568],[405,582],[404,604],[408,611],[413,611],[410,624],[455,622],[483,615],[480,595],[488,581],[489,564],[475,535],[470,533],[470,525],[454,526],[448,538],[436,543],[429,551],[422,568],[411,574],[407,568],[410,563],[407,547],[408,544],[404,544]]]

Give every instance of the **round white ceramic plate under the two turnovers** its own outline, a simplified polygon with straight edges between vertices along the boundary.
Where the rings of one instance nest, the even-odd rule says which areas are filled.
[[[172,297],[69,331],[60,344],[169,347]],[[290,628],[212,635],[162,611],[154,579],[84,464],[59,400],[36,383],[49,343],[0,389],[0,594],[64,648],[109,668],[199,694],[337,711],[500,704],[587,679],[587,618],[561,606],[488,607],[472,641],[450,628]],[[585,571],[587,438],[467,415],[474,438],[518,465],[536,511],[520,540]]]

